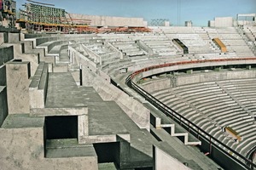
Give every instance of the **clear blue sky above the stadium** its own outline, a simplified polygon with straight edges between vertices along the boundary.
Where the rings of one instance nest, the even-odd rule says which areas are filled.
[[[256,0],[34,0],[55,4],[55,8],[64,8],[68,13],[109,15],[122,17],[142,17],[144,20],[169,19],[176,26],[178,22],[192,20],[194,26],[207,26],[214,17],[236,14],[255,14]],[[16,0],[17,8],[26,0]]]

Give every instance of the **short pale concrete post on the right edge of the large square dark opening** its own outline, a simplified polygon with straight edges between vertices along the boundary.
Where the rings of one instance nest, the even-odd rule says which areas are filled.
[[[79,128],[79,144],[85,143],[85,137],[89,135],[89,122],[88,115],[78,116],[78,128]]]

